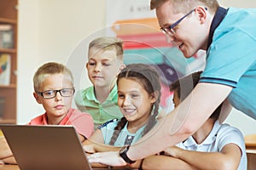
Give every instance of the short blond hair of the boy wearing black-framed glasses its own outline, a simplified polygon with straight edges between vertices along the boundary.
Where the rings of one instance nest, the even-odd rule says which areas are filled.
[[[65,75],[73,85],[73,74],[65,65],[61,65],[56,62],[46,63],[38,68],[38,71],[35,72],[33,77],[34,90],[38,91],[40,84],[44,82],[45,77],[62,73]]]

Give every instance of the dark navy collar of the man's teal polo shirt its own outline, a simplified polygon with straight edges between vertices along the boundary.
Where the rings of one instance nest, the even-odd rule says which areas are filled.
[[[227,14],[228,9],[218,7],[216,14],[213,17],[212,25],[210,27],[210,34],[208,37],[208,44],[207,44],[207,50],[210,47],[212,43],[212,37],[215,29],[218,27],[218,25],[221,23],[221,21],[224,19],[225,15]]]

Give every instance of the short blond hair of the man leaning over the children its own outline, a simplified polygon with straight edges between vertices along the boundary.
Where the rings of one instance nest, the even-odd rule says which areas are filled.
[[[201,5],[207,8],[212,14],[215,14],[219,7],[217,0],[151,0],[150,9],[159,8],[163,3],[168,1],[175,8],[173,13],[189,13],[190,10]]]

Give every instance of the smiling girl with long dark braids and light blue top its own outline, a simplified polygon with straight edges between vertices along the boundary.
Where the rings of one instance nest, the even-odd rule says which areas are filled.
[[[131,64],[117,79],[118,105],[123,114],[102,124],[87,144],[130,145],[137,142],[157,122],[160,105],[160,77],[152,67]],[[86,150],[86,149],[85,149]],[[96,150],[94,151],[102,151]]]

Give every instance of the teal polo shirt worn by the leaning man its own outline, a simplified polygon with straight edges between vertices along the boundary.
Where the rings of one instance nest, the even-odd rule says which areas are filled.
[[[232,87],[230,104],[253,119],[256,119],[255,23],[256,9],[228,8],[214,30],[200,80]]]

